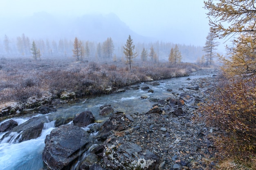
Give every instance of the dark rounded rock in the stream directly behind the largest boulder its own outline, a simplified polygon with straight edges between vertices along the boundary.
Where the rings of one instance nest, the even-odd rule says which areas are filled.
[[[85,127],[85,126],[88,126],[89,124],[94,123],[94,121],[95,121],[95,118],[92,115],[92,112],[85,111],[80,113],[79,115],[76,115],[76,117],[73,120],[73,123],[75,126]]]

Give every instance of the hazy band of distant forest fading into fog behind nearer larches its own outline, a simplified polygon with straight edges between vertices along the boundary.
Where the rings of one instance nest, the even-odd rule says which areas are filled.
[[[111,40],[110,44],[108,43],[109,40]],[[63,59],[72,58],[74,39],[71,40],[63,38],[59,40],[34,40],[27,37],[25,34],[16,38],[9,38],[7,35],[2,35],[2,38],[0,37],[0,57],[31,57],[31,45],[33,41],[36,43],[37,48],[40,49],[42,59],[49,57],[62,57]],[[103,42],[93,42],[88,40],[81,41],[84,48],[87,50],[85,60],[124,60],[123,46],[126,40],[124,40],[123,44],[120,42],[113,42],[111,37],[107,38],[106,41]],[[141,60],[140,54],[143,48],[145,48],[147,53],[149,53],[151,47],[153,47],[155,53],[158,55],[159,61],[168,61],[170,50],[175,46],[172,42],[159,41],[148,43],[134,42],[134,44],[135,51],[138,54],[138,57],[135,59],[137,61]],[[111,51],[106,50],[109,49],[109,45],[111,45]],[[182,54],[182,62],[193,63],[204,55],[204,52],[202,51],[203,47],[201,46],[185,44],[177,44],[177,46]]]

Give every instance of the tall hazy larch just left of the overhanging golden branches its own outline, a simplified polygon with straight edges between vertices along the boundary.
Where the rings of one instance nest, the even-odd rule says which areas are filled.
[[[203,51],[205,52],[204,57],[206,58],[206,65],[211,65],[213,62],[213,57],[215,55],[216,46],[219,45],[218,42],[214,41],[216,38],[216,34],[210,31],[206,37],[205,46],[203,47]]]

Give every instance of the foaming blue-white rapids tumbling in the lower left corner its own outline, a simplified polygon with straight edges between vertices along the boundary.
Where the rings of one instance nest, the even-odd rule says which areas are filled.
[[[11,132],[0,144],[0,170],[42,169],[45,137],[55,128],[54,125],[55,121],[45,123],[40,137],[20,143],[16,142],[18,140],[13,140],[18,137],[19,133]]]

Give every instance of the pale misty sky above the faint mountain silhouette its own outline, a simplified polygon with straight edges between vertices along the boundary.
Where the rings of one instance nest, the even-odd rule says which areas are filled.
[[[0,16],[42,11],[67,17],[115,13],[140,35],[204,46],[209,24],[203,7],[203,0],[1,0]]]

